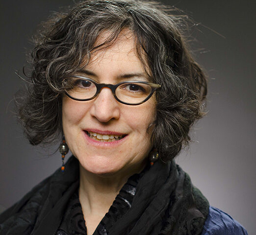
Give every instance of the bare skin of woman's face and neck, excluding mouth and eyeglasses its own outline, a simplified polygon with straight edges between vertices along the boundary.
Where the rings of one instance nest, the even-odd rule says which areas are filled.
[[[96,44],[106,37],[107,33],[102,34]],[[148,81],[146,75],[123,77],[124,74],[145,74],[135,53],[134,39],[128,31],[122,32],[111,47],[93,53],[85,69],[94,75],[83,72],[78,75],[98,83]],[[153,147],[147,128],[155,119],[155,102],[153,95],[141,105],[121,104],[109,88],[103,88],[99,96],[90,101],[63,97],[63,131],[80,164],[79,199],[88,235],[93,234],[128,177],[140,172],[147,163]],[[86,138],[84,130],[88,129],[127,136],[117,144],[97,145]]]

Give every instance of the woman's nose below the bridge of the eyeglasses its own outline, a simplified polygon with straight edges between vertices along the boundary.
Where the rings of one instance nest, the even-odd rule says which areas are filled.
[[[108,122],[120,117],[119,102],[109,88],[102,88],[93,102],[90,113],[100,122]]]

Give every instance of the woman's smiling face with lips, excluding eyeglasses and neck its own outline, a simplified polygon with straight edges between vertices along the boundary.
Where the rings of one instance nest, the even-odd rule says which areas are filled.
[[[88,66],[78,74],[107,84],[148,81],[134,52],[133,38],[128,34],[120,34],[113,46],[93,53]],[[103,88],[98,97],[89,101],[76,101],[64,95],[65,139],[86,171],[102,176],[139,172],[153,147],[147,128],[154,121],[155,112],[154,96],[132,106],[119,103],[109,88]],[[98,140],[113,136],[112,141]]]

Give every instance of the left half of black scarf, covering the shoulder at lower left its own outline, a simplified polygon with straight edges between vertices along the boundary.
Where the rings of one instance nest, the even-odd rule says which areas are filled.
[[[58,168],[19,202],[0,214],[0,235],[25,234],[24,231],[30,234],[34,227],[38,230],[42,227],[47,231],[55,230],[62,218],[63,208],[79,184],[78,161],[71,157],[66,166],[64,174]]]

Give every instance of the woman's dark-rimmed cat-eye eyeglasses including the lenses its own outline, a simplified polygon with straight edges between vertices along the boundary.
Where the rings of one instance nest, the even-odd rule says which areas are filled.
[[[139,105],[146,102],[154,91],[161,87],[159,84],[144,81],[124,81],[116,85],[97,83],[83,76],[72,76],[63,80],[66,94],[78,101],[94,99],[102,88],[110,88],[115,99],[122,104]]]

